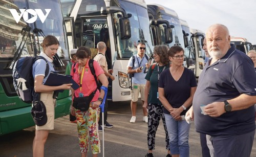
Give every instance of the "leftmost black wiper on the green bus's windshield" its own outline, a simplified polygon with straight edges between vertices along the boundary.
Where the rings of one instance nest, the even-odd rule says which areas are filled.
[[[21,34],[23,35],[23,36],[22,36],[22,41],[19,43],[18,49],[17,49],[17,51],[16,51],[15,54],[14,54],[13,61],[12,61],[11,65],[9,66],[9,69],[11,69],[11,70],[13,69],[14,63],[20,58],[20,55],[22,55],[22,51],[23,51],[23,49],[24,49],[24,46],[25,46],[25,44],[26,44],[26,41],[27,41],[27,39],[28,39],[28,36],[29,36],[29,32],[30,32],[30,31],[31,31],[31,27],[29,27],[29,26],[24,27],[24,28],[22,29],[22,32],[21,32]],[[27,37],[26,37],[26,39],[24,40],[26,34],[27,34]],[[24,42],[24,43],[23,43],[23,42]],[[23,46],[22,46],[22,43],[23,43]],[[22,47],[22,48],[20,48],[20,47]]]

